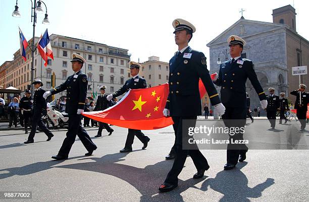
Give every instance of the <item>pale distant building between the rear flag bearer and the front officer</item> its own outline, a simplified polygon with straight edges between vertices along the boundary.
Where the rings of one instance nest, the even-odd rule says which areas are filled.
[[[148,88],[169,82],[169,63],[160,61],[160,57],[150,56],[140,65],[139,76],[146,79]]]

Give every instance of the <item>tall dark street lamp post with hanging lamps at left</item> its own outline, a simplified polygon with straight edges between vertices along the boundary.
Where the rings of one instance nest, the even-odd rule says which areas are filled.
[[[16,0],[15,10],[13,11],[12,16],[16,17],[16,18],[20,18],[21,14],[18,11],[17,1],[18,0]],[[31,55],[32,55],[32,62],[31,62],[31,91],[32,92],[33,92],[32,82],[33,82],[33,79],[34,79],[34,52],[35,52],[35,49],[36,49],[36,47],[34,45],[36,15],[44,13],[44,10],[41,7],[42,3],[44,4],[45,9],[46,9],[45,18],[43,19],[42,24],[48,25],[49,24],[49,20],[48,20],[48,15],[47,15],[47,7],[46,7],[45,3],[42,2],[42,1],[36,2],[36,0],[34,0],[34,2],[32,2],[32,0],[31,0],[31,22],[33,22],[32,48],[30,48]]]

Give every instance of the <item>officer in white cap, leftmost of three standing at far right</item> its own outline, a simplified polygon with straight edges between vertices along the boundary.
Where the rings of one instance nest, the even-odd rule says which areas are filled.
[[[279,96],[275,95],[275,89],[269,88],[269,95],[267,96],[267,118],[271,123],[272,129],[275,129],[276,126],[276,113],[279,108]]]

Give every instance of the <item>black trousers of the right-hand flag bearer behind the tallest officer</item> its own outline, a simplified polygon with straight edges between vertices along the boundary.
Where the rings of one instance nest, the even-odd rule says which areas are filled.
[[[241,131],[231,133],[234,127],[244,127],[246,123],[246,108],[234,108],[226,107],[225,113],[222,115],[222,119],[226,127],[230,128],[229,140],[230,143],[233,139],[243,140],[243,133]],[[238,162],[239,155],[245,154],[248,151],[248,147],[245,144],[228,144],[226,151],[227,163],[236,165]]]

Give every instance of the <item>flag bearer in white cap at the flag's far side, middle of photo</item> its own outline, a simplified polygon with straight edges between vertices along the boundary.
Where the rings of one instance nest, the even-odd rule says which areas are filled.
[[[146,80],[138,76],[138,72],[141,65],[134,61],[130,61],[129,64],[130,64],[130,74],[132,78],[128,79],[126,83],[123,85],[123,87],[121,87],[117,92],[108,95],[107,96],[108,101],[128,92],[129,89],[141,89],[147,87]],[[134,141],[134,136],[136,136],[140,140],[140,142],[143,143],[142,149],[146,149],[150,139],[147,136],[145,136],[144,133],[142,133],[140,130],[128,128],[128,136],[126,144],[125,147],[122,150],[120,150],[121,153],[132,152],[132,144]]]

